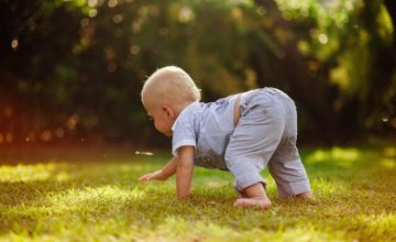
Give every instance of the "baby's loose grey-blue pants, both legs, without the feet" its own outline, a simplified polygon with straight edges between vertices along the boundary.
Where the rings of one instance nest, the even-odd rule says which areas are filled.
[[[257,183],[268,166],[280,197],[310,191],[309,179],[296,146],[297,112],[294,101],[275,88],[242,94],[241,117],[226,150],[234,187],[243,190]]]

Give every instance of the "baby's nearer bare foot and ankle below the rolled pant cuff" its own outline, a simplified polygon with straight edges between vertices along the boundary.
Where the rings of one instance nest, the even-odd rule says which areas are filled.
[[[254,184],[250,187],[246,187],[243,190],[245,198],[240,198],[235,201],[235,207],[243,208],[262,208],[268,209],[271,207],[271,200],[265,194],[265,189],[262,183]]]

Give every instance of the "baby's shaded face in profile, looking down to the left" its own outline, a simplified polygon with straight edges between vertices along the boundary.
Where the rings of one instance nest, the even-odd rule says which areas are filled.
[[[169,118],[164,107],[155,107],[145,103],[144,108],[147,111],[148,117],[154,121],[155,129],[166,136],[172,136],[172,125],[174,120]]]

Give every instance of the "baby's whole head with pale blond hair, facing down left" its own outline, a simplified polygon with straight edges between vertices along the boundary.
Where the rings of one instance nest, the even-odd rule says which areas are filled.
[[[141,95],[155,128],[168,136],[180,111],[200,100],[200,91],[191,77],[176,66],[166,66],[153,73],[144,82]]]

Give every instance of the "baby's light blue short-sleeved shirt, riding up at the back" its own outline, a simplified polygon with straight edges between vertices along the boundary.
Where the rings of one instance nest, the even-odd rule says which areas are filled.
[[[172,153],[177,156],[179,147],[191,145],[195,146],[195,165],[227,170],[224,153],[234,130],[237,97],[229,96],[208,103],[197,101],[187,106],[172,127]]]

